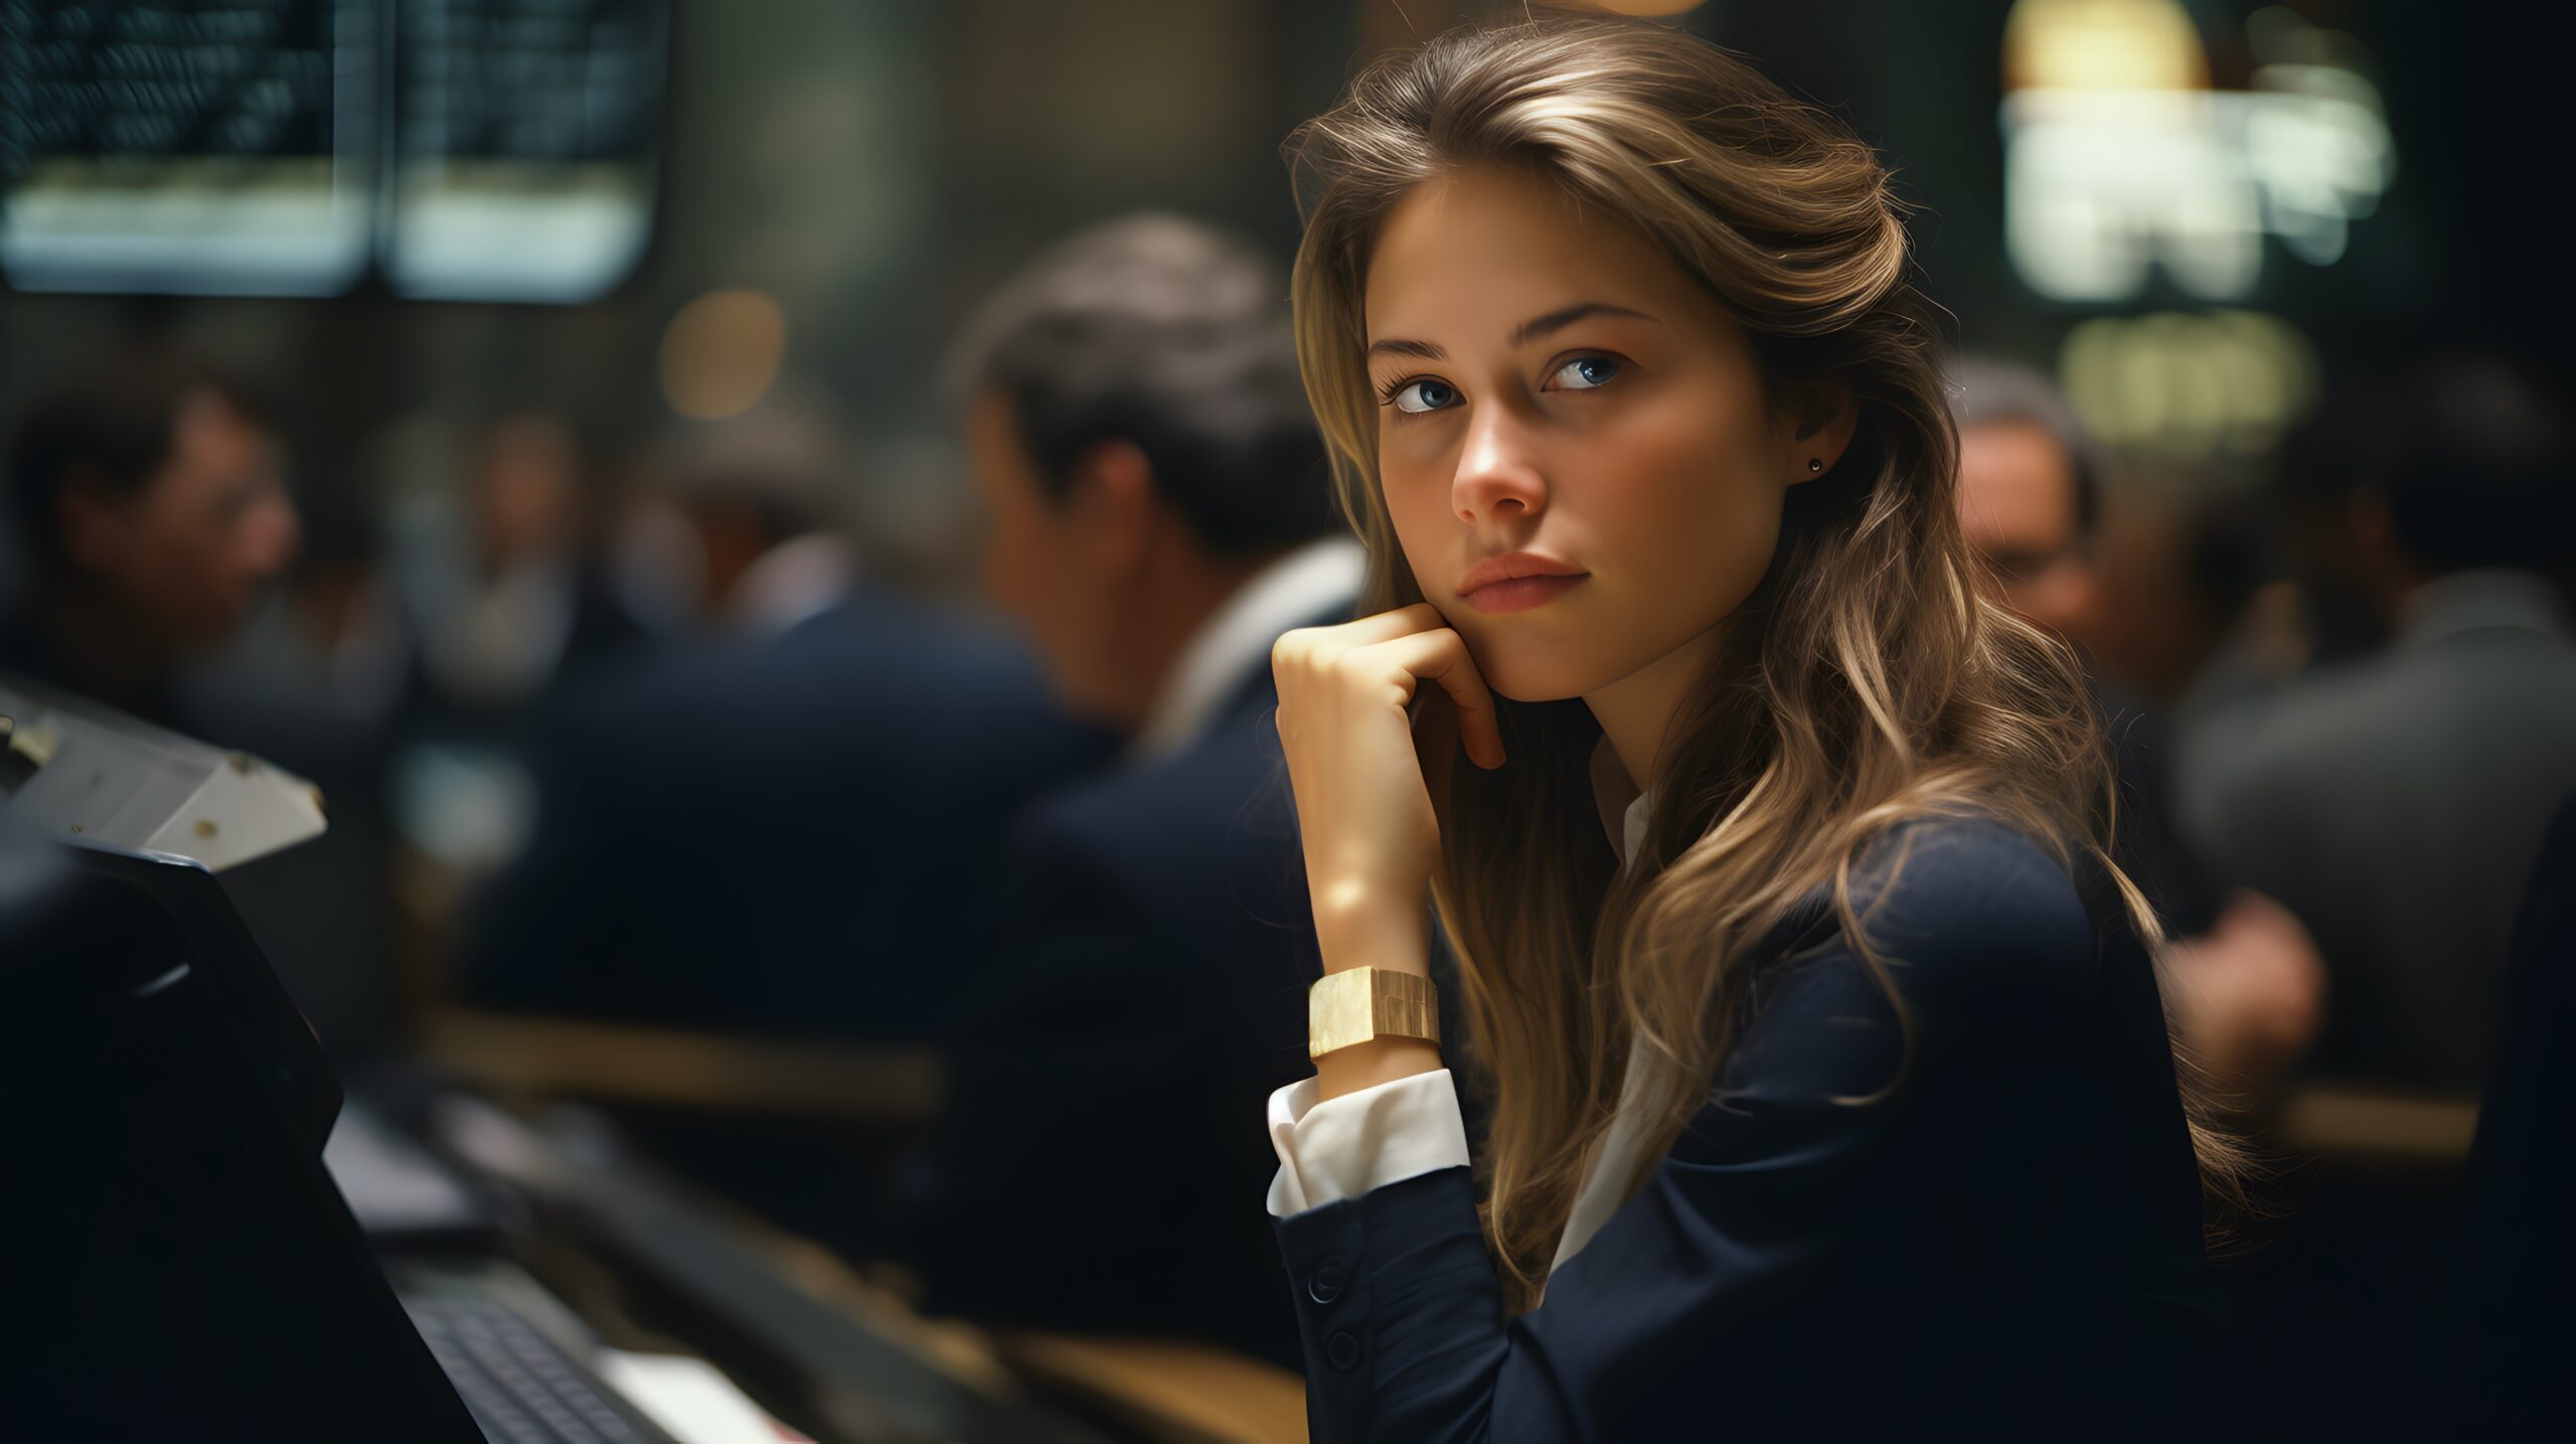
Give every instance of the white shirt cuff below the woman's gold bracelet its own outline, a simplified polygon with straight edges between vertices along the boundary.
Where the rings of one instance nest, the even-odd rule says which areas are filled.
[[[1270,1212],[1288,1217],[1417,1174],[1466,1166],[1466,1120],[1448,1068],[1316,1102],[1306,1078],[1270,1094]]]

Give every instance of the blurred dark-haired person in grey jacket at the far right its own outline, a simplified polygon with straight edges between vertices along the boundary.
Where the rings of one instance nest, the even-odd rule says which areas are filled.
[[[2450,360],[2396,396],[2347,512],[2391,643],[2200,718],[2182,816],[2223,880],[2316,934],[2316,1073],[2473,1094],[2514,903],[2576,785],[2576,631],[2550,579],[2576,507],[2561,399],[2530,373]]]

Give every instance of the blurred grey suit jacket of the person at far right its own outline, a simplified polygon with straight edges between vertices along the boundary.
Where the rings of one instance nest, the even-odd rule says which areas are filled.
[[[2378,656],[2202,718],[2182,821],[2326,958],[2303,1071],[2476,1094],[2550,808],[2576,788],[2576,631],[2537,577],[2429,582]]]

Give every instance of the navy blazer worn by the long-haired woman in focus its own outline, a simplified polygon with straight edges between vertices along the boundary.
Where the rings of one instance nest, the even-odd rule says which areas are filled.
[[[2102,878],[1991,821],[1865,862],[1904,1009],[1811,896],[1708,1104],[1533,1313],[1504,1315],[1468,1169],[1275,1223],[1314,1439],[2172,1418],[2200,1192],[2146,952]]]

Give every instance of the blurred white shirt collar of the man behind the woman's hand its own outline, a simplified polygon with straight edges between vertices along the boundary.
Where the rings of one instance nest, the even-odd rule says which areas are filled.
[[[1260,667],[1280,633],[1360,595],[1368,553],[1347,535],[1311,541],[1255,571],[1218,605],[1172,662],[1162,692],[1128,744],[1131,762],[1190,746]]]

